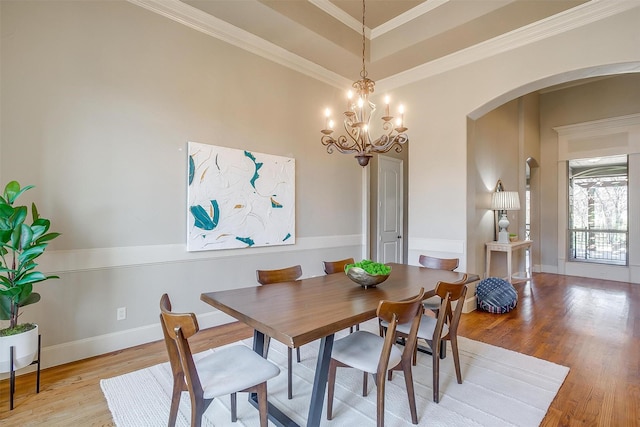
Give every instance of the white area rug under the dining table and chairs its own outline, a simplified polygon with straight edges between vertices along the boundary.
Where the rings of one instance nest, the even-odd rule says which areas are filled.
[[[372,321],[361,328],[377,331]],[[344,333],[336,335],[336,339]],[[293,366],[293,399],[287,399],[287,351],[271,341],[269,359],[281,373],[268,382],[269,401],[299,425],[306,425],[311,386],[317,357],[317,343],[301,348],[302,361]],[[251,340],[241,342],[251,345]],[[420,425],[429,426],[537,426],[544,418],[569,368],[478,341],[459,338],[463,384],[458,384],[453,358],[440,361],[440,403],[432,400],[431,356],[418,353],[414,383]],[[447,346],[450,350],[450,346]],[[215,351],[215,350],[210,350]],[[109,409],[118,427],[164,426],[169,417],[171,368],[168,363],[131,372],[100,382]],[[322,425],[374,426],[376,392],[369,381],[369,395],[362,397],[362,374],[354,369],[338,369],[333,420]],[[257,426],[258,411],[238,395],[238,422],[231,423],[229,397],[213,401],[205,413],[204,426]],[[385,425],[411,426],[404,378],[395,372],[387,383]],[[182,395],[178,426],[188,426],[190,404]]]

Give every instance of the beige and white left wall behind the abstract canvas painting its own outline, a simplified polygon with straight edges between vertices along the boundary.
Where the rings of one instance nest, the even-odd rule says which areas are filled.
[[[360,258],[361,167],[319,142],[340,91],[124,1],[0,8],[0,185],[36,185],[62,232],[41,263],[60,279],[23,316],[45,365],[159,339],[162,292],[208,326],[226,318],[203,291]],[[295,158],[297,244],[186,253],[187,141]]]

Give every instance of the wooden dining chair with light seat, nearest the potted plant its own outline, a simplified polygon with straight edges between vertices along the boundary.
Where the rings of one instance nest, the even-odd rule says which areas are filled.
[[[167,294],[160,298],[160,325],[173,373],[169,427],[175,426],[183,391],[191,400],[191,427],[202,423],[202,415],[214,398],[231,395],[231,421],[237,420],[237,392],[256,393],[260,426],[267,427],[267,380],[280,369],[248,347],[234,345],[194,360],[188,339],[198,330],[193,313],[172,313]]]

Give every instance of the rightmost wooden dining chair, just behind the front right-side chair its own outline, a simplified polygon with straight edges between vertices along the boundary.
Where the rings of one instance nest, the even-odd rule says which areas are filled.
[[[440,401],[440,347],[443,342],[451,342],[451,353],[453,354],[453,365],[456,370],[458,384],[462,384],[462,373],[460,371],[460,356],[458,354],[458,324],[462,315],[464,298],[467,295],[467,286],[459,283],[438,282],[434,295],[441,298],[438,317],[422,315],[418,328],[417,340],[422,339],[431,348],[431,358],[433,366],[433,401]],[[427,293],[429,295],[429,293]],[[455,304],[455,308],[453,307]],[[389,333],[389,329],[387,329]],[[398,325],[395,331],[397,337],[409,339],[413,330],[406,325]],[[413,350],[413,364],[416,364],[417,345]],[[389,373],[391,377],[391,372]]]

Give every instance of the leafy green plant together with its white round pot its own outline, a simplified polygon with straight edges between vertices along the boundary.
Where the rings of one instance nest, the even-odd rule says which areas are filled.
[[[33,185],[20,188],[17,181],[11,181],[0,197],[0,320],[9,321],[8,327],[0,329],[0,372],[10,370],[11,346],[15,349],[14,369],[33,361],[38,326],[19,324],[20,309],[40,301],[40,294],[33,292],[34,283],[58,278],[35,271],[36,258],[60,233],[48,232],[51,223],[40,217],[35,203],[31,204],[31,225],[26,223],[29,209],[16,205],[16,200],[30,188]]]

